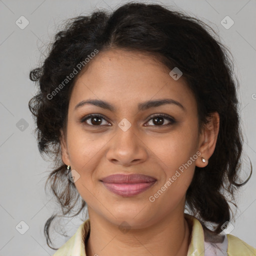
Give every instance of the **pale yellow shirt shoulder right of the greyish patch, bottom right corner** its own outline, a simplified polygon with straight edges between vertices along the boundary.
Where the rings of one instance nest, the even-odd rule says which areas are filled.
[[[226,237],[228,240],[228,256],[256,256],[256,249],[247,244],[245,241],[232,234],[227,234]]]

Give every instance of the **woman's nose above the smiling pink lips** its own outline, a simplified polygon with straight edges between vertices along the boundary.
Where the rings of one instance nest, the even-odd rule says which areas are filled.
[[[142,163],[148,157],[145,142],[134,133],[131,127],[126,131],[118,127],[116,134],[109,142],[106,157],[112,163],[129,166]]]

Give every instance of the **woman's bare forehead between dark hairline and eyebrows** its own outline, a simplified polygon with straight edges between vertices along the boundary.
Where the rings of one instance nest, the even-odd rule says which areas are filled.
[[[150,55],[115,49],[99,52],[87,64],[73,87],[71,107],[91,98],[123,107],[166,97],[190,108],[195,105],[185,79],[174,80],[170,69]]]

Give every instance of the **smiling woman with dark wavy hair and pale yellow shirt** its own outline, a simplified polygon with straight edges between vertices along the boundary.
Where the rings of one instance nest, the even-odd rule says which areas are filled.
[[[71,19],[30,72],[47,182],[64,215],[77,196],[89,215],[54,256],[256,255],[227,232],[228,198],[250,176],[238,179],[232,62],[207,29],[130,2]]]

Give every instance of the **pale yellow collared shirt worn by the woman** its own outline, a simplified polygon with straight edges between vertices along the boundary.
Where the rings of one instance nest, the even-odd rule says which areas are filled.
[[[192,227],[187,256],[256,256],[256,249],[232,234],[212,234],[203,229],[199,220],[187,213],[184,217]],[[85,240],[90,233],[86,219],[52,256],[86,256]]]

